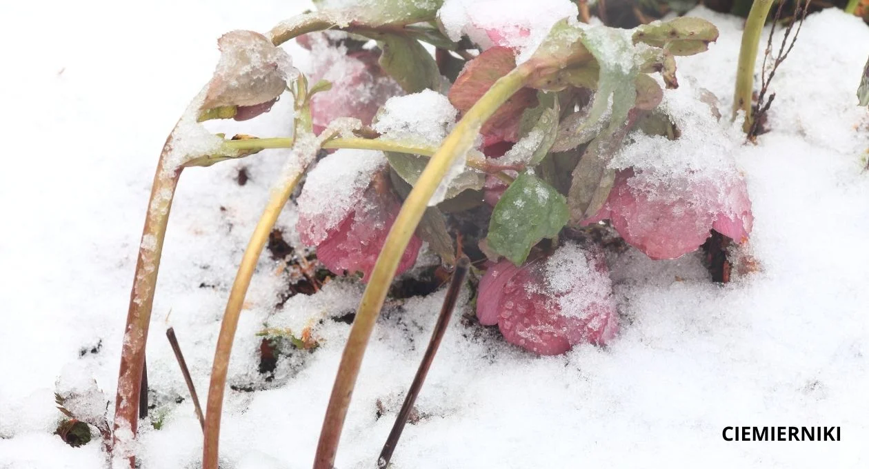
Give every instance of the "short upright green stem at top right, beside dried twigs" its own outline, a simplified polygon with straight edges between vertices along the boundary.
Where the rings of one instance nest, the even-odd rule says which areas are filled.
[[[772,6],[773,0],[755,0],[748,13],[746,29],[742,31],[740,61],[736,69],[736,90],[733,93],[733,119],[736,119],[737,112],[741,109],[746,115],[746,121],[742,125],[746,132],[752,127],[754,63],[757,62],[760,33]]]

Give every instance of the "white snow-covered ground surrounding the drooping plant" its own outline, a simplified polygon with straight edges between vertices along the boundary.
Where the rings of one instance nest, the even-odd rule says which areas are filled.
[[[0,468],[105,464],[96,438],[72,448],[52,434],[62,417],[54,393],[93,377],[114,399],[163,140],[214,69],[217,36],[268,30],[308,6],[3,6]],[[680,81],[696,80],[730,109],[741,20],[693,14],[716,23],[721,36],[708,52],[680,57]],[[305,69],[304,50],[286,47]],[[859,19],[834,9],[809,17],[773,82],[773,131],[757,146],[738,147],[758,272],[721,287],[709,281],[699,254],[649,261],[628,251],[610,259],[620,336],[607,348],[559,357],[521,352],[494,331],[463,326],[456,314],[417,401],[423,417],[406,428],[394,466],[869,465],[869,115],[854,96],[867,55],[869,28]],[[291,112],[284,99],[260,119],[221,129],[287,135]],[[204,400],[229,283],[287,155],[269,150],[182,175],[148,347],[158,404],[152,419],[163,426],[140,425],[145,468],[198,465],[202,433],[189,399],[174,403],[187,391],[163,330],[176,328]],[[239,168],[249,174],[243,186]],[[279,225],[295,233],[292,206]],[[235,340],[231,384],[262,384],[255,333],[266,323],[298,328],[340,316],[362,293],[354,282],[336,281],[277,311],[287,282],[280,270],[263,255]],[[374,466],[442,296],[407,301],[381,317],[338,467]],[[227,393],[220,446],[227,467],[310,466],[348,331],[325,320],[315,328],[322,347],[282,359],[269,389]],[[841,441],[728,442],[725,426],[841,426]]]

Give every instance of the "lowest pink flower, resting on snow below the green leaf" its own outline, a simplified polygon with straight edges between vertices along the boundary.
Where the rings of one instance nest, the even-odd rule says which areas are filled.
[[[507,342],[541,355],[581,343],[605,345],[619,329],[603,256],[571,244],[521,267],[503,260],[489,268],[480,281],[477,318],[497,324]]]

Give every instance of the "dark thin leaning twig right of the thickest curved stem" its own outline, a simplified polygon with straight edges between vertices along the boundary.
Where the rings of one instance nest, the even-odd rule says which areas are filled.
[[[414,408],[414,402],[416,401],[416,396],[420,393],[423,381],[426,380],[428,368],[431,367],[434,360],[434,354],[437,353],[438,347],[441,347],[441,340],[443,339],[443,334],[447,331],[449,318],[452,316],[455,308],[455,301],[459,299],[461,286],[464,285],[465,277],[468,275],[471,261],[467,255],[461,254],[461,252],[460,255],[461,257],[455,263],[453,278],[449,282],[447,296],[443,299],[441,314],[438,315],[437,323],[434,324],[434,331],[432,331],[431,340],[428,341],[426,353],[422,355],[420,367],[416,370],[414,381],[411,383],[410,389],[408,389],[408,395],[404,398],[401,411],[399,411],[398,416],[395,418],[392,431],[389,432],[386,443],[381,450],[380,458],[377,459],[377,466],[381,469],[389,466],[389,459],[392,459],[392,453],[395,452],[395,446],[398,445],[398,439],[401,438],[401,431],[404,430],[404,425],[408,422],[408,415],[410,415],[410,411]]]

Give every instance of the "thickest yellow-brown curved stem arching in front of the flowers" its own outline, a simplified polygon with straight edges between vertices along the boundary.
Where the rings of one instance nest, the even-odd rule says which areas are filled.
[[[519,91],[534,72],[534,66],[523,64],[495,82],[485,95],[468,110],[452,132],[441,143],[431,160],[416,181],[413,190],[401,206],[401,211],[389,230],[377,258],[368,287],[362,295],[362,302],[356,312],[353,328],[344,347],[341,365],[335,376],[335,385],[329,397],[326,417],[323,419],[320,441],[314,459],[315,469],[332,469],[338,441],[341,439],[342,426],[347,417],[347,409],[353,394],[362,357],[368,346],[368,339],[380,314],[389,285],[395,277],[395,269],[410,238],[414,235],[428,201],[440,184],[455,158],[467,152],[474,145],[474,138],[480,133],[482,124],[491,117],[501,104]]]

